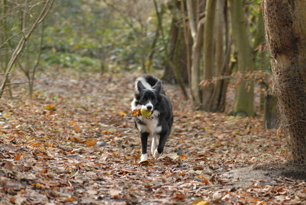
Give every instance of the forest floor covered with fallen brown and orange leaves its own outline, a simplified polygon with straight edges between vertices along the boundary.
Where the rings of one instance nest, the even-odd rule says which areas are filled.
[[[3,97],[0,204],[306,203],[305,173],[284,165],[284,137],[261,117],[194,111],[173,85],[164,84],[174,123],[162,159],[148,150],[139,164],[138,76],[44,72],[33,100],[26,85]]]

